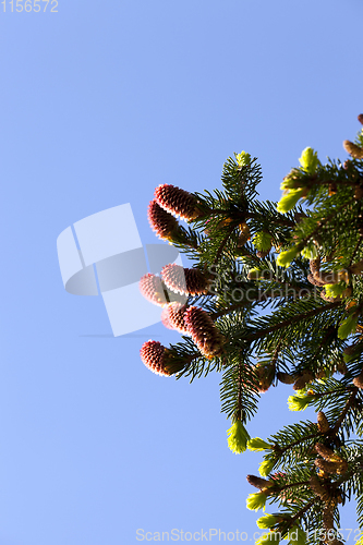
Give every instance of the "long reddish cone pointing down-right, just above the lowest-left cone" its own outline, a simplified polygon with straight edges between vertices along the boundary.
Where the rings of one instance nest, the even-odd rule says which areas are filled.
[[[225,337],[205,311],[197,306],[190,306],[184,313],[184,322],[203,355],[213,358],[221,354]]]

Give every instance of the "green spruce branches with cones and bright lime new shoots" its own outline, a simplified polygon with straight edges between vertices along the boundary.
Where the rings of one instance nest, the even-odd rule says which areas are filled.
[[[194,261],[197,280],[185,271],[178,319],[187,335],[168,349],[148,341],[144,363],[191,382],[221,374],[230,449],[265,452],[265,479],[247,476],[259,488],[247,508],[277,504],[257,521],[276,543],[340,545],[339,508],[353,497],[363,529],[363,129],[343,146],[343,164],[304,149],[278,204],[257,199],[261,167],[242,152],[227,159],[222,190],[162,185],[149,207],[153,229]],[[294,390],[289,408],[315,408],[316,422],[251,438],[261,392],[279,383]]]

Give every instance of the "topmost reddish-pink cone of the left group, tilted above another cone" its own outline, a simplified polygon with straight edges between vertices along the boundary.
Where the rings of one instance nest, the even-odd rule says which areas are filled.
[[[161,208],[181,219],[192,220],[205,215],[197,206],[197,198],[176,185],[164,183],[156,187],[154,196]]]

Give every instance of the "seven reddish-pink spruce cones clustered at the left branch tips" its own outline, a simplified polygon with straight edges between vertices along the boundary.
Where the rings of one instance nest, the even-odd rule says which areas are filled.
[[[180,227],[174,216],[190,221],[205,215],[194,195],[173,185],[159,185],[154,197],[148,207],[148,220],[160,239],[172,240],[178,234]],[[169,264],[161,269],[160,276],[143,276],[140,290],[148,301],[164,307],[161,322],[166,327],[190,336],[201,354],[211,359],[221,354],[225,337],[207,312],[186,303],[190,295],[207,294],[209,282],[210,275],[197,268]],[[169,376],[176,370],[174,355],[160,342],[145,342],[141,358],[146,367],[159,375]]]

